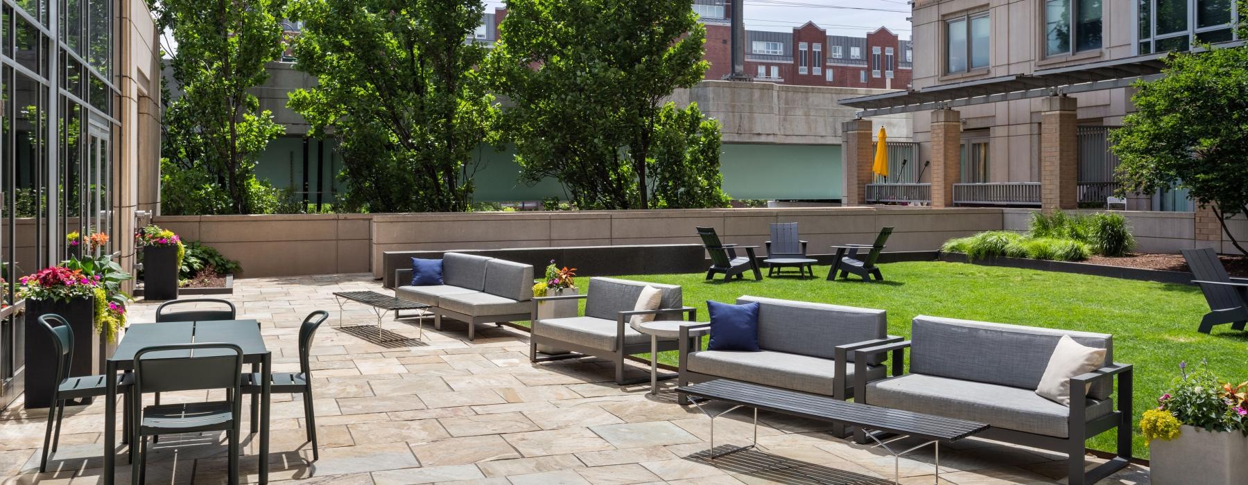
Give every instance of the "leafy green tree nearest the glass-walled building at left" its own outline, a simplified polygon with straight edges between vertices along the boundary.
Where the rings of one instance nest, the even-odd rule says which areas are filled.
[[[251,213],[276,191],[256,161],[285,128],[248,90],[281,56],[285,0],[162,0],[157,30],[177,44],[170,65],[183,94],[166,106],[161,185],[166,212]]]

